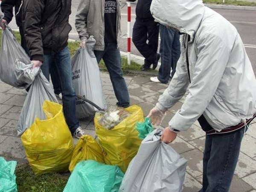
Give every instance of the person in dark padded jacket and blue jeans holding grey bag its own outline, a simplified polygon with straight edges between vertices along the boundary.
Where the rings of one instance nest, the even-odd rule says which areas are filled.
[[[76,93],[72,83],[70,52],[67,47],[71,0],[24,0],[22,24],[34,67],[41,67],[49,81],[49,69],[57,68],[63,94],[63,111],[74,137],[84,131],[76,118]]]

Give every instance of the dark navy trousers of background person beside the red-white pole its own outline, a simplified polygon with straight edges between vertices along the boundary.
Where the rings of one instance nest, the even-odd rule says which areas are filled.
[[[136,18],[132,31],[132,41],[145,58],[147,67],[150,67],[157,60],[158,35],[159,24],[157,22]]]

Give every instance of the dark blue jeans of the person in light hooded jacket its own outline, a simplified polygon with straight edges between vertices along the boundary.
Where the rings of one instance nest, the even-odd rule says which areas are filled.
[[[228,192],[236,169],[244,129],[207,135],[203,159],[203,187],[200,192]]]

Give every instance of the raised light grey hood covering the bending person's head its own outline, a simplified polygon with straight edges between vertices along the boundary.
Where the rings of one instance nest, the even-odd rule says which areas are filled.
[[[150,11],[157,22],[189,34],[192,40],[205,7],[202,0],[152,0]]]

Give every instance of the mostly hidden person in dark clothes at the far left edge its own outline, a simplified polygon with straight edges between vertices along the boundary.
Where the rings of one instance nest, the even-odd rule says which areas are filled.
[[[29,54],[29,50],[26,47],[22,20],[21,20],[22,5],[23,5],[22,0],[2,0],[0,7],[1,7],[1,11],[4,14],[4,17],[1,20],[0,26],[2,27],[3,30],[5,30],[4,24],[8,25],[11,22],[13,17],[13,7],[14,7],[16,24],[19,27],[19,31],[20,31],[20,40],[21,40],[20,44],[21,44],[21,47],[26,51],[26,53]],[[58,79],[55,79],[55,77],[58,76],[58,74],[56,73],[57,70],[55,65],[51,67],[50,71],[51,71],[52,82],[54,82],[53,83],[54,93],[58,95],[60,99],[62,99],[61,84],[58,81]],[[27,89],[27,91],[28,90],[29,89]]]

